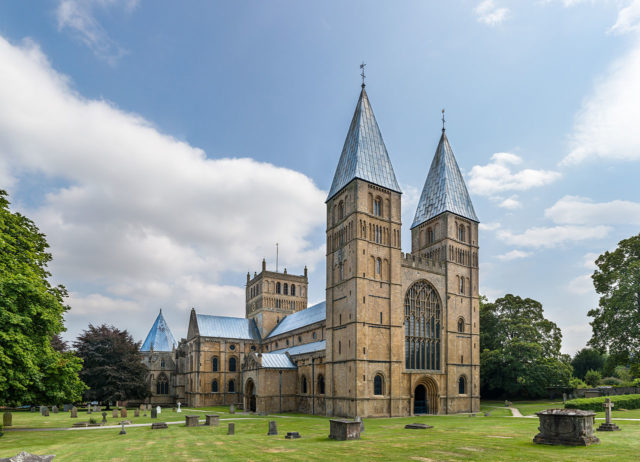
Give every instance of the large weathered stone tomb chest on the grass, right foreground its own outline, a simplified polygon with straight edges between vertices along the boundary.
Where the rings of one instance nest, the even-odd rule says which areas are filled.
[[[567,446],[589,446],[600,440],[593,434],[596,413],[578,409],[547,409],[536,412],[540,419],[540,433],[533,442]]]

